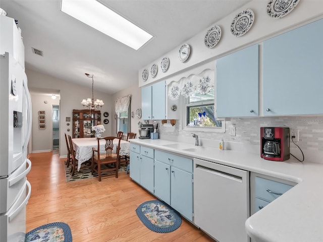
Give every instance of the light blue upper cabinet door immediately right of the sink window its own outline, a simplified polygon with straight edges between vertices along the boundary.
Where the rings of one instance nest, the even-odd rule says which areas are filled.
[[[217,60],[218,117],[257,116],[259,48],[253,45]]]

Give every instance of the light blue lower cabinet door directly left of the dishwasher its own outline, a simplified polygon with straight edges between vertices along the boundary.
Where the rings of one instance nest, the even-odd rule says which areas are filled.
[[[193,175],[171,168],[171,206],[192,221],[193,214]]]

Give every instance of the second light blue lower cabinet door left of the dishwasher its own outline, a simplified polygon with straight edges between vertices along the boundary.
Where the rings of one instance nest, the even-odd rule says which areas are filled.
[[[167,204],[171,204],[171,166],[155,160],[154,194]]]

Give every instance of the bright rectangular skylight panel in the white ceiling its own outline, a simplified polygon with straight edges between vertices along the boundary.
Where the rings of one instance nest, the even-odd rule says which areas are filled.
[[[152,35],[96,0],[62,0],[61,11],[137,50]]]

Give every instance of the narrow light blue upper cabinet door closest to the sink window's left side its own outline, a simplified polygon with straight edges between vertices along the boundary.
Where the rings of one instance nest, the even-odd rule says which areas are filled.
[[[165,81],[152,85],[152,119],[166,118],[166,84]]]

